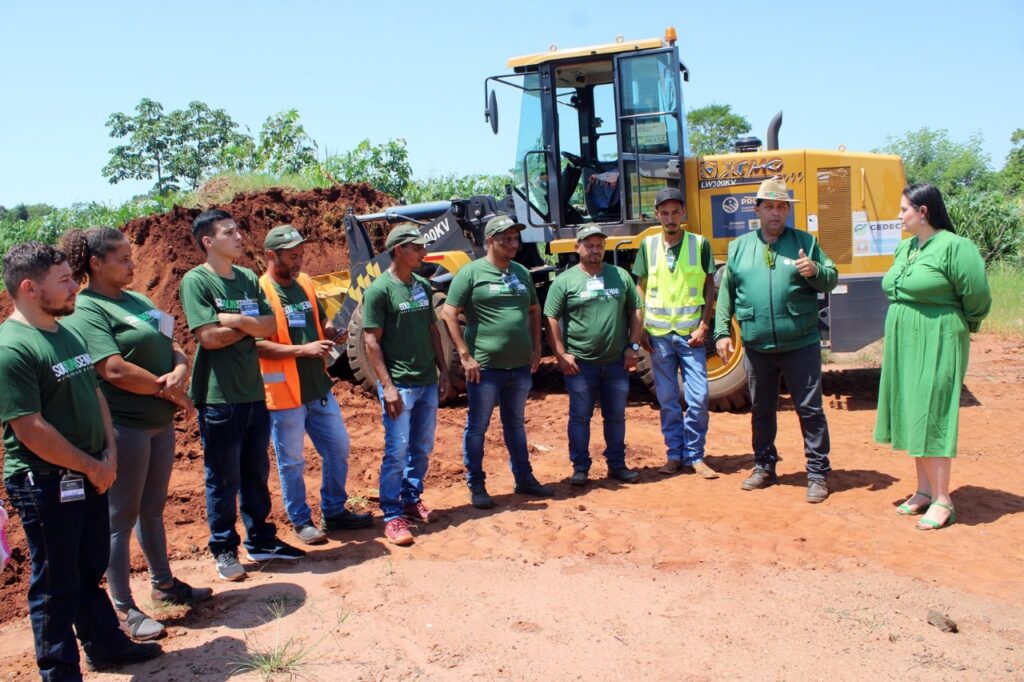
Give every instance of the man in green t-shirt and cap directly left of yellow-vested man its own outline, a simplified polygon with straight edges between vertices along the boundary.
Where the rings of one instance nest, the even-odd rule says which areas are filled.
[[[551,284],[544,314],[548,339],[569,394],[569,460],[573,485],[590,472],[590,420],[601,403],[608,477],[634,483],[640,474],[626,466],[626,396],[637,365],[643,303],[629,272],[604,262],[607,236],[596,223],[577,230],[580,263]]]

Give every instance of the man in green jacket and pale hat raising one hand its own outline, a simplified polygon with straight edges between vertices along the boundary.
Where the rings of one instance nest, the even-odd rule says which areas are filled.
[[[821,407],[821,335],[818,294],[836,287],[836,264],[817,240],[786,226],[791,204],[778,177],[758,188],[755,211],[760,228],[729,244],[718,293],[715,339],[723,363],[735,352],[729,337],[732,315],[746,348],[751,389],[754,472],[744,491],[776,482],[775,449],[779,378],[793,395],[807,457],[807,502],[828,497],[828,424]]]

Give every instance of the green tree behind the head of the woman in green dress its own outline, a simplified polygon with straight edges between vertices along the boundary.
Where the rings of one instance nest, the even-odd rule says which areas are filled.
[[[996,178],[982,144],[981,133],[971,135],[967,142],[956,142],[949,139],[948,130],[921,128],[899,137],[889,135],[873,152],[901,157],[907,182],[931,182],[951,195],[968,187],[994,186]]]

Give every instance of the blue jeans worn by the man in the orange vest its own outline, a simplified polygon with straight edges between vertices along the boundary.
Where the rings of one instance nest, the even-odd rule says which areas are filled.
[[[325,516],[337,516],[345,511],[348,495],[348,432],[341,419],[341,408],[331,391],[322,398],[310,400],[291,410],[270,411],[270,441],[278,456],[278,475],[285,511],[292,525],[312,522],[312,512],[306,504],[306,458],[302,453],[303,435],[308,433],[323,460],[321,477],[321,511]]]

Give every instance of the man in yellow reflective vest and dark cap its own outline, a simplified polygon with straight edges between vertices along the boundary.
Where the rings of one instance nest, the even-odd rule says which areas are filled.
[[[654,196],[662,231],[640,245],[633,274],[644,299],[642,343],[650,352],[668,462],[658,471],[718,478],[703,461],[708,437],[708,353],[715,258],[708,240],[683,229],[686,200],[676,187]],[[679,403],[683,379],[684,414]]]

